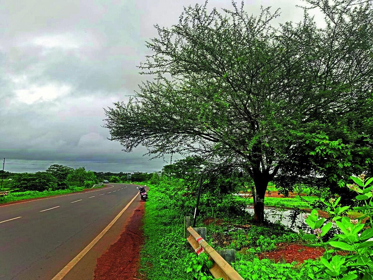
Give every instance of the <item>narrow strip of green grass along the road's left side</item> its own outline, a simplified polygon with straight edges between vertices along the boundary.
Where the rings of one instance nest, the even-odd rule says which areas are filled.
[[[94,188],[102,188],[103,185]],[[50,195],[61,195],[69,194],[71,192],[83,191],[84,187],[69,187],[64,190],[55,191],[22,191],[22,192],[10,192],[8,195],[0,197],[0,203],[7,203],[12,201],[24,200],[29,198],[47,197]]]

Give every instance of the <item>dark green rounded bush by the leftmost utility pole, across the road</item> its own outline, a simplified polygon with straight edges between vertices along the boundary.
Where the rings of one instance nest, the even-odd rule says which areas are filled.
[[[57,179],[47,172],[21,173],[12,177],[9,186],[20,191],[56,190]]]

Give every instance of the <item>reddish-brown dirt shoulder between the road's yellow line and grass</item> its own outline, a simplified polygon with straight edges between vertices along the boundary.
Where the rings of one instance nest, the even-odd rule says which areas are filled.
[[[118,241],[97,259],[94,271],[95,280],[112,279],[144,279],[144,275],[138,275],[140,264],[140,250],[144,244],[142,228],[142,216],[144,215],[144,203],[134,211],[127,226],[123,230]]]

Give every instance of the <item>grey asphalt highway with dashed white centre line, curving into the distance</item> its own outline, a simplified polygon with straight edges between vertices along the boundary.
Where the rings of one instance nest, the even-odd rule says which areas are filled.
[[[0,205],[0,279],[52,279],[136,194],[136,185],[107,184],[83,193]]]

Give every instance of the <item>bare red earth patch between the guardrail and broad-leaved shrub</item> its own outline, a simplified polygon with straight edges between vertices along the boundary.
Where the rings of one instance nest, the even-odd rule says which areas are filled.
[[[305,260],[316,260],[320,258],[325,250],[320,247],[307,247],[305,245],[300,244],[290,244],[287,245],[285,243],[277,244],[279,249],[273,252],[265,252],[259,255],[258,257],[260,260],[264,258],[268,258],[270,260],[274,260],[275,262],[288,262],[291,263],[293,261],[303,263]]]

